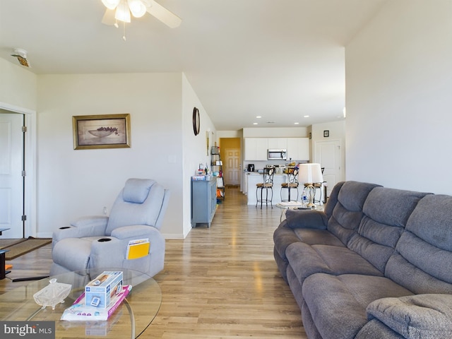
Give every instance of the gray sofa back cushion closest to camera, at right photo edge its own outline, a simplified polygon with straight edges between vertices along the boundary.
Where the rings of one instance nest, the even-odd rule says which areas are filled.
[[[385,275],[415,294],[452,294],[452,196],[427,195],[408,219]]]

